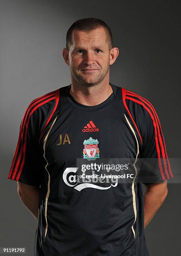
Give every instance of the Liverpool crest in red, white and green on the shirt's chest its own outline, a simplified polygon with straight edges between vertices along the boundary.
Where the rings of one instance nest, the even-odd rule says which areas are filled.
[[[83,156],[87,160],[96,160],[99,158],[99,148],[97,145],[99,141],[90,137],[88,140],[84,140],[84,149],[83,149]]]

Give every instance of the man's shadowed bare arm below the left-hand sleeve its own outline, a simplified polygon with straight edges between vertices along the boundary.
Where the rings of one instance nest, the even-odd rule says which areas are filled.
[[[40,187],[30,186],[22,182],[17,182],[17,192],[23,204],[37,219]]]

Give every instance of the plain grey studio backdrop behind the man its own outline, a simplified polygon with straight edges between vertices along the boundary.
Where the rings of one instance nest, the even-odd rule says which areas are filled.
[[[62,49],[79,18],[100,18],[111,28],[119,56],[110,82],[152,102],[169,157],[181,157],[179,12],[179,1],[0,1],[0,246],[25,246],[33,255],[37,221],[7,174],[27,105],[71,82]],[[151,256],[181,255],[181,185],[168,188],[145,229]]]

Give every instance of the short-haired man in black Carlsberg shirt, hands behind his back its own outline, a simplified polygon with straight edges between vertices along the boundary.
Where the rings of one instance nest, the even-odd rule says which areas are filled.
[[[147,256],[144,228],[171,172],[158,115],[144,97],[109,82],[119,49],[102,20],[77,20],[63,58],[71,84],[25,111],[8,179],[38,219],[35,256]],[[156,158],[156,183],[77,182],[77,159]],[[164,159],[164,161],[161,161]]]

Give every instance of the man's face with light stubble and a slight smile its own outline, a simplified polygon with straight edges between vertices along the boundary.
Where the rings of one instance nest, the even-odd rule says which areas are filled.
[[[104,28],[89,33],[73,31],[69,49],[69,68],[80,84],[98,84],[109,72],[110,51]],[[87,70],[92,69],[92,70]]]

